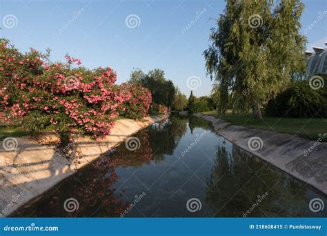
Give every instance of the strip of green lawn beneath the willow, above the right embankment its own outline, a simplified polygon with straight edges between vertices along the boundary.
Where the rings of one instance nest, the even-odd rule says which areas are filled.
[[[261,128],[263,130],[272,130],[275,132],[286,132],[291,135],[298,135],[308,139],[317,140],[319,134],[327,133],[327,119],[306,119],[306,118],[278,118],[265,117],[257,120],[252,114],[233,115],[228,111],[226,115],[219,116],[217,110],[201,112],[204,115],[221,118],[237,126],[246,126],[249,128]],[[327,138],[324,139],[326,142]]]

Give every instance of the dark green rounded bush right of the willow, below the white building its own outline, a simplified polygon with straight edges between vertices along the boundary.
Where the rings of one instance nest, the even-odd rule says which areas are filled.
[[[309,81],[296,81],[275,99],[270,99],[265,112],[271,117],[321,118],[327,117],[326,103],[326,86],[313,90]]]

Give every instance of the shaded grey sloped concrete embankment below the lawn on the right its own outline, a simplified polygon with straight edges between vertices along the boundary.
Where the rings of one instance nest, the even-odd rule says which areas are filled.
[[[196,116],[211,121],[218,135],[327,195],[326,143],[295,135],[234,126],[222,119],[199,113]],[[254,148],[248,145],[253,137],[262,140],[258,150],[255,150],[257,146]]]

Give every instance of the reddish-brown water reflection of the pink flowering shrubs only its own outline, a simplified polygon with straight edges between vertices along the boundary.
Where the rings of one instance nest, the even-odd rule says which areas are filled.
[[[121,144],[63,180],[61,184],[69,189],[60,188],[59,184],[13,216],[28,217],[32,213],[32,217],[119,217],[129,203],[123,197],[123,191],[112,188],[119,179],[115,168],[142,166],[152,159],[148,130],[141,130],[137,137],[141,141],[139,149],[129,151],[124,143]],[[77,199],[79,209],[69,213],[63,204],[71,197]]]

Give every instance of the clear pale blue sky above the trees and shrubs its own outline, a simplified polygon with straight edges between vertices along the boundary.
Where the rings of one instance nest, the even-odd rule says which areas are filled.
[[[308,37],[307,48],[324,46],[327,1],[303,2],[301,32]],[[51,48],[54,61],[68,53],[88,68],[110,66],[117,71],[118,83],[129,79],[132,68],[161,68],[189,95],[187,79],[199,77],[201,87],[193,92],[209,95],[212,82],[202,52],[215,26],[210,18],[217,19],[224,7],[223,0],[0,0],[0,37],[22,52]]]

